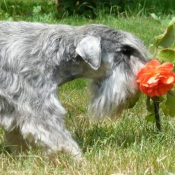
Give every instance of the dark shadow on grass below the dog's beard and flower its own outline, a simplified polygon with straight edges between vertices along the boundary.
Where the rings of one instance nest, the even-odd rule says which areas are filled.
[[[119,121],[91,123],[88,119],[81,119],[80,126],[75,129],[75,140],[83,152],[89,149],[95,151],[104,150],[107,147],[114,149],[128,149],[140,146],[143,142],[165,144],[173,143],[174,131],[164,127],[164,132],[157,132],[152,123],[138,119],[123,118]],[[144,120],[144,119],[143,119]]]

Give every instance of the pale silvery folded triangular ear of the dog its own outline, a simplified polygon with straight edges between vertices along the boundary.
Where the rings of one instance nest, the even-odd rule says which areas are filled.
[[[95,36],[84,37],[78,43],[76,53],[97,70],[101,65],[101,39]]]

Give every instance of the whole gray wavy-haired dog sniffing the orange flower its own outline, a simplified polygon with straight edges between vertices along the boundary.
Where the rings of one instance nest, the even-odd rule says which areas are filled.
[[[31,145],[80,158],[58,86],[92,79],[89,111],[114,117],[137,95],[137,73],[147,61],[137,37],[104,25],[0,22],[0,125],[7,145],[13,152]]]

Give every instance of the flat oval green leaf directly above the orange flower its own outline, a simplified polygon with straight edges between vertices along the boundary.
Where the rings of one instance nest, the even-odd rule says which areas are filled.
[[[156,57],[161,61],[165,62],[175,62],[175,50],[174,49],[162,49],[160,50]]]

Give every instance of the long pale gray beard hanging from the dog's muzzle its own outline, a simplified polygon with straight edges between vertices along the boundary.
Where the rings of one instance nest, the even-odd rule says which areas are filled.
[[[94,119],[117,118],[133,97],[138,96],[137,73],[144,64],[136,60],[130,63],[132,69],[127,69],[121,63],[109,77],[91,82],[89,112]]]

